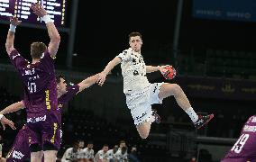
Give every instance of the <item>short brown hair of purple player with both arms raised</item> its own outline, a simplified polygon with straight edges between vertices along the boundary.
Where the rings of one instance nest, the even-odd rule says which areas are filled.
[[[47,46],[43,42],[32,42],[31,55],[32,58],[39,59],[41,54],[47,49]]]

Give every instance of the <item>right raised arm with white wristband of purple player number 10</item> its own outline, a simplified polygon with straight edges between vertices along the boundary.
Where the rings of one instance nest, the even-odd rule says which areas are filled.
[[[50,15],[47,14],[46,10],[42,8],[41,5],[32,4],[31,8],[33,13],[41,17],[44,23],[46,23],[48,34],[50,37],[48,51],[50,53],[50,56],[52,58],[55,58],[57,51],[59,49],[59,42],[60,42],[59,32],[56,29],[54,23],[52,23],[52,20],[50,19]]]

